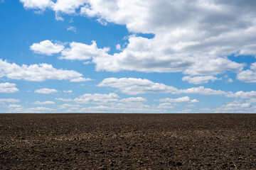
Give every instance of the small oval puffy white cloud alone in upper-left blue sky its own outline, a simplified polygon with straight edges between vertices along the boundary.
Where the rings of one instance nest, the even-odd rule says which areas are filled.
[[[53,55],[62,51],[64,46],[58,43],[53,44],[50,40],[44,40],[39,43],[33,43],[33,45],[30,46],[30,49],[37,54]]]

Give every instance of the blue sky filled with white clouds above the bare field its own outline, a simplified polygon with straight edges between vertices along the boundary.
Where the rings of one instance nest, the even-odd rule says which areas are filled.
[[[0,113],[255,113],[256,1],[0,0]]]

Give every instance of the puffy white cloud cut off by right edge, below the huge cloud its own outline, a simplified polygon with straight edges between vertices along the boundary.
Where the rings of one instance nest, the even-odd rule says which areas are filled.
[[[256,83],[256,62],[251,64],[250,69],[238,73],[237,79],[246,83]]]

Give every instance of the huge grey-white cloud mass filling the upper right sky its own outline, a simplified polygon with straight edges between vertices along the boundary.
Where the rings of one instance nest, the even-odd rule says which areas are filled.
[[[35,1],[22,2],[26,8],[43,8],[40,7],[43,5],[36,6]],[[99,49],[94,43],[75,45],[78,42],[73,42],[74,45],[71,43],[70,49],[60,57],[67,60],[93,57],[98,71],[216,75],[227,71],[240,72],[244,67],[245,64],[233,62],[226,56],[256,55],[253,1],[58,0],[46,1],[45,4],[44,8],[47,6],[56,13],[78,14],[80,11],[80,15],[97,18],[102,24],[116,23],[127,26],[131,33],[154,34],[151,39],[130,36],[127,47],[113,55],[107,53],[108,48]],[[78,49],[75,46],[79,46]],[[86,50],[78,52],[81,48]]]

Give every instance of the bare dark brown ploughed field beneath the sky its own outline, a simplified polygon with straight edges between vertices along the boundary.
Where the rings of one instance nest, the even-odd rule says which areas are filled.
[[[0,169],[256,169],[256,114],[0,114]]]

